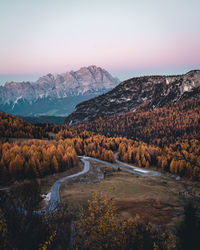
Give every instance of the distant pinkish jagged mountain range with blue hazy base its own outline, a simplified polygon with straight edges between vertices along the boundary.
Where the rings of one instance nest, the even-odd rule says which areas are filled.
[[[117,84],[117,78],[96,66],[48,74],[36,82],[9,82],[0,86],[0,110],[20,116],[67,116],[78,103]]]

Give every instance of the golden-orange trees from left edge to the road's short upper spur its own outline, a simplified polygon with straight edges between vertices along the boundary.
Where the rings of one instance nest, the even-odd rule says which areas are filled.
[[[114,162],[120,139],[76,130],[62,130],[57,140],[0,142],[0,183],[42,178],[78,164],[77,155]]]

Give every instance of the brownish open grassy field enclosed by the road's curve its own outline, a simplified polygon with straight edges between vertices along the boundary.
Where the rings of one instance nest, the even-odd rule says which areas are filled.
[[[91,165],[90,172],[84,177],[62,184],[60,195],[63,203],[78,209],[80,205],[86,206],[94,192],[112,190],[111,196],[123,217],[138,214],[153,224],[168,225],[181,218],[185,197],[180,194],[187,189],[189,181],[176,181],[165,173],[161,177],[131,175],[95,161],[91,161]],[[92,183],[91,176],[96,169],[100,169],[105,178]]]

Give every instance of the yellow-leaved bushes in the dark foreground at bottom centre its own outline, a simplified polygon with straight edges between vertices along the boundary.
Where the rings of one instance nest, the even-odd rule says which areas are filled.
[[[174,237],[149,222],[122,219],[109,195],[94,194],[75,222],[74,249],[175,249]]]

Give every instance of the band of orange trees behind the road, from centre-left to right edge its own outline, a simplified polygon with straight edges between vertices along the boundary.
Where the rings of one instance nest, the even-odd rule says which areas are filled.
[[[73,146],[79,155],[114,162],[114,152],[118,151],[119,159],[124,162],[143,168],[156,167],[194,180],[200,179],[200,141],[197,139],[178,139],[175,143],[159,147],[126,137],[106,137],[75,129],[61,130],[57,134],[58,139],[68,136],[73,138]]]

